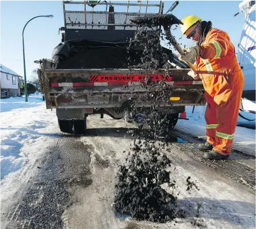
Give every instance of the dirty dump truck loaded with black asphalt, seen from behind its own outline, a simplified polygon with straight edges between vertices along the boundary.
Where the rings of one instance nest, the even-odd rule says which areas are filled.
[[[163,14],[164,3],[155,2],[63,1],[61,43],[52,59],[36,61],[46,108],[56,109],[61,132],[85,133],[92,114],[135,120],[134,107],[167,115],[172,128],[185,106],[204,106],[202,81],[188,76],[189,66],[170,49],[160,47],[169,69],[160,62],[154,69],[133,67],[145,53],[129,45],[138,31],[130,18]]]

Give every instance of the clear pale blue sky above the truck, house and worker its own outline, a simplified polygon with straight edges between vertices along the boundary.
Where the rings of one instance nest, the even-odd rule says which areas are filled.
[[[114,1],[111,1],[114,2]],[[142,1],[145,2],[145,1]],[[156,2],[156,1],[152,1]],[[163,1],[164,13],[175,1]],[[236,17],[241,1],[179,1],[172,12],[182,19],[195,14],[203,20],[213,22],[214,28],[222,29],[231,37],[237,48],[244,24],[244,14]],[[82,5],[80,5],[81,7]],[[79,6],[76,6],[79,7]],[[100,9],[100,6],[96,6]],[[91,9],[90,7],[88,7]],[[97,10],[96,8],[94,8]],[[119,11],[115,7],[115,11]],[[53,48],[61,42],[58,29],[64,26],[62,1],[1,1],[1,63],[14,72],[24,76],[22,31],[25,23],[32,17],[53,14],[53,18],[35,18],[28,23],[24,32],[25,61],[27,79],[30,80],[32,70],[39,65],[34,61],[51,58]],[[180,28],[173,32],[177,38],[181,36]],[[181,46],[192,46],[193,43],[182,37]]]

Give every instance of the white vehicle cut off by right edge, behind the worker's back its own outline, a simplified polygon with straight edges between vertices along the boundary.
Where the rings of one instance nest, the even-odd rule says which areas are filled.
[[[241,102],[241,111],[255,114],[255,57],[256,57],[256,23],[255,23],[255,1],[243,1],[239,4],[240,12],[245,14],[245,22],[238,44],[237,59],[243,69],[244,90]],[[239,12],[239,13],[240,13]],[[235,16],[238,13],[235,14]]]

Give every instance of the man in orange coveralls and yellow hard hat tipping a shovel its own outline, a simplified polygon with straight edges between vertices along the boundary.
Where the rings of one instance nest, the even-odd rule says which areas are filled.
[[[180,57],[181,61],[195,62],[194,73],[188,73],[203,82],[206,108],[207,141],[199,145],[204,157],[225,160],[231,153],[233,137],[244,86],[244,77],[236,59],[235,47],[228,34],[212,28],[211,21],[196,16],[182,19],[182,35],[196,42]]]

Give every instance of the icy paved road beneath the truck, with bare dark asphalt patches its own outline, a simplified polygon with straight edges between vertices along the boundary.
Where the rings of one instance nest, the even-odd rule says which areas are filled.
[[[178,186],[178,206],[189,214],[170,223],[137,222],[112,207],[116,171],[125,162],[134,125],[92,115],[87,127],[86,136],[72,136],[60,133],[56,126],[45,156],[31,168],[34,175],[15,197],[17,204],[3,208],[2,226],[255,228],[255,152],[233,150],[230,160],[210,162],[196,148],[202,142],[198,136],[174,129],[166,154],[173,161],[170,171]],[[200,190],[186,191],[188,176]],[[198,204],[202,207],[196,217]]]

